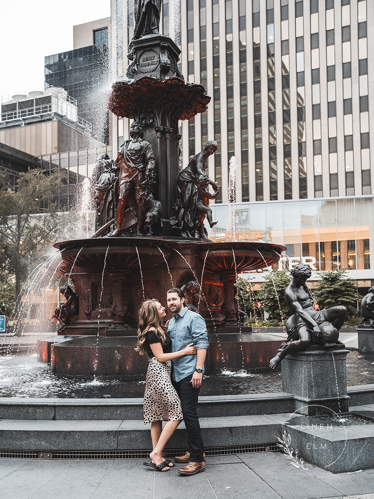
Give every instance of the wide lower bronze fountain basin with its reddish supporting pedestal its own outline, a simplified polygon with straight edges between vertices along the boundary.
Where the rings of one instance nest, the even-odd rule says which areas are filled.
[[[163,237],[82,239],[54,247],[63,260],[59,273],[70,276],[79,296],[78,314],[61,334],[80,336],[104,336],[114,328],[122,335],[124,329],[136,328],[137,310],[144,299],[164,302],[169,288],[191,278],[202,283],[199,312],[207,325],[235,326],[237,273],[272,265],[285,249],[266,243]],[[121,316],[116,313],[119,309],[125,310]]]

